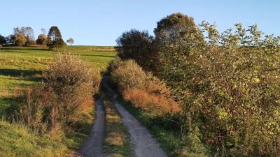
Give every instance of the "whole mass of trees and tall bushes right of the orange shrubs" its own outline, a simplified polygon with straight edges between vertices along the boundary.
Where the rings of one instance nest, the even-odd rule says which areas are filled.
[[[131,29],[116,40],[120,59],[151,71],[181,104],[172,117],[181,156],[280,156],[280,37],[234,26],[220,33],[174,13],[155,36]]]

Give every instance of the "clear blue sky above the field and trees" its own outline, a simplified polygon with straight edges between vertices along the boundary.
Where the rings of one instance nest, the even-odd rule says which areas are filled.
[[[255,23],[261,31],[280,35],[280,1],[252,0],[13,0],[1,1],[0,34],[8,36],[14,27],[32,27],[35,38],[41,29],[57,26],[62,38],[73,38],[74,45],[116,45],[116,38],[130,29],[153,34],[162,17],[181,12],[215,22],[219,31],[233,24]]]

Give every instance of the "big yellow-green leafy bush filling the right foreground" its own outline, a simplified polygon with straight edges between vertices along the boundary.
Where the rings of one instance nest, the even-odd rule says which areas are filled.
[[[256,24],[223,33],[215,24],[200,27],[163,54],[162,76],[184,104],[186,147],[202,143],[216,156],[279,156],[280,38],[262,39]]]

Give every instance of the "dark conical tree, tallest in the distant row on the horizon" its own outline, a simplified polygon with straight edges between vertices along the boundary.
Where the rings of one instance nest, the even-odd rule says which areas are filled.
[[[57,48],[64,46],[64,40],[62,39],[62,35],[57,27],[50,27],[47,39],[47,45],[51,50],[56,50]]]

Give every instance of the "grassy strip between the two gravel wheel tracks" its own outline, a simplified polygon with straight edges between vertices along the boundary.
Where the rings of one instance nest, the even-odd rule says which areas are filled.
[[[104,100],[104,110],[106,114],[104,134],[105,156],[132,156],[130,134],[108,94]]]

